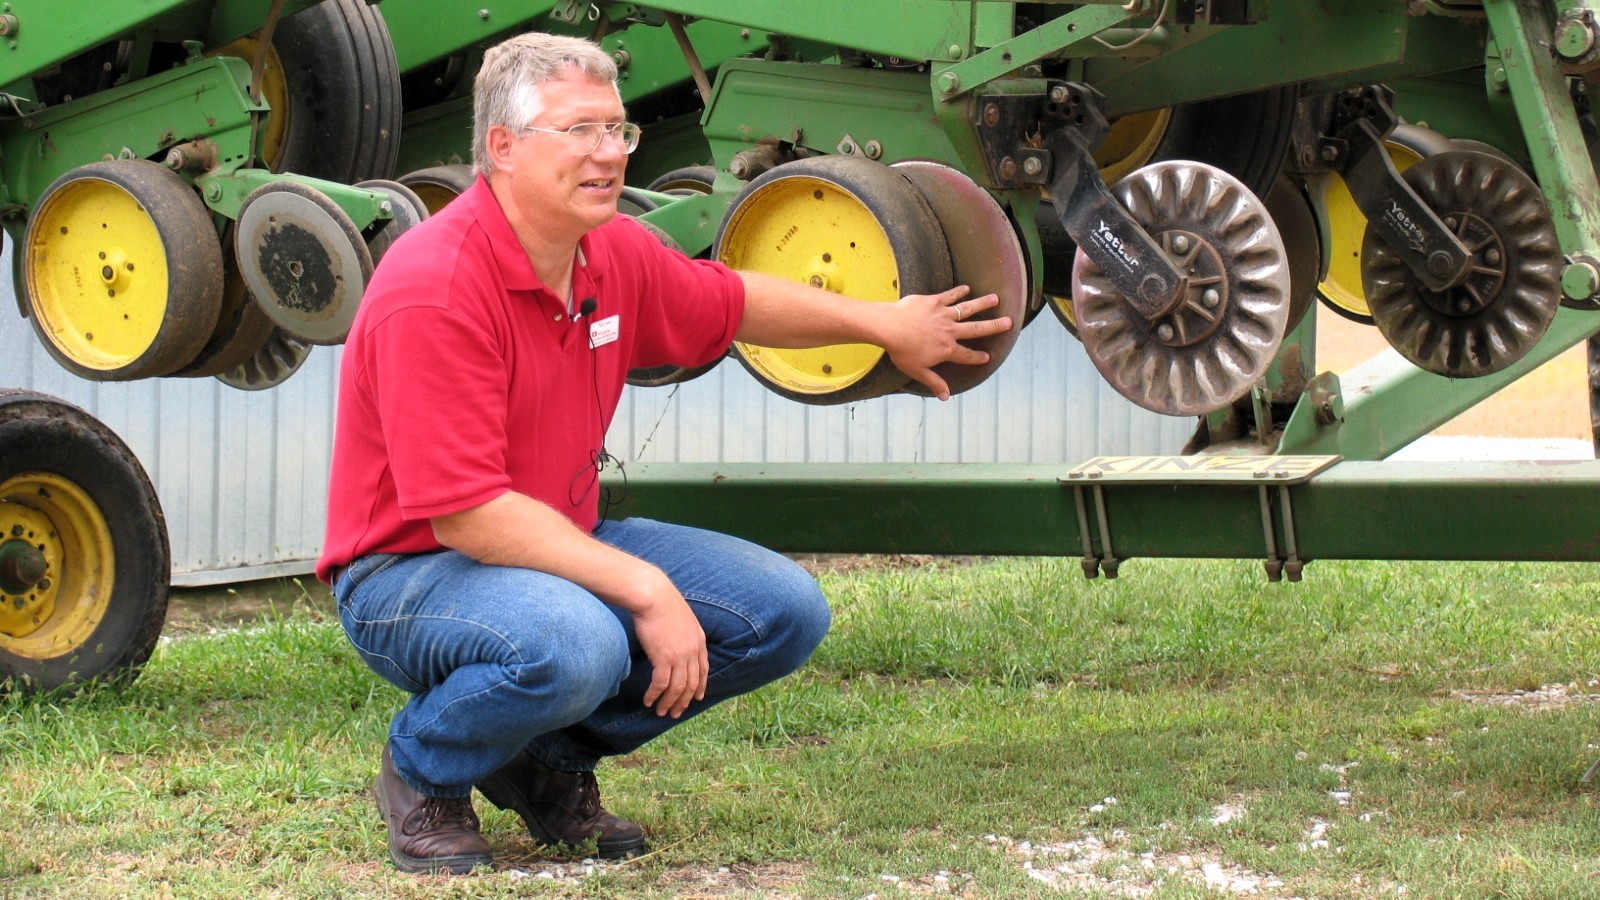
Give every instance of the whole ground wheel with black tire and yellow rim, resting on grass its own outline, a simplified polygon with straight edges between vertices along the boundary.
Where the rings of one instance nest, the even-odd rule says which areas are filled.
[[[0,690],[131,681],[162,633],[166,522],[83,410],[0,391]]]

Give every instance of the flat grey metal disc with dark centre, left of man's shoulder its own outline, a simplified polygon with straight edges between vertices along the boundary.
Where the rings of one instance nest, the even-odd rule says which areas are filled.
[[[326,194],[298,181],[254,189],[238,211],[234,253],[245,287],[278,328],[312,344],[350,333],[373,255]]]

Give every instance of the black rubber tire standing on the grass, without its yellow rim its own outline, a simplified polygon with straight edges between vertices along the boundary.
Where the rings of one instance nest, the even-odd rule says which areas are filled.
[[[166,620],[171,549],[166,519],[133,452],[91,415],[43,394],[0,391],[0,484],[45,472],[77,485],[104,516],[115,559],[110,601],[86,639],[32,657],[0,634],[0,690],[74,692],[91,681],[128,684]],[[0,498],[8,500],[8,498]],[[51,560],[64,569],[90,560]],[[58,604],[56,615],[62,615]]]

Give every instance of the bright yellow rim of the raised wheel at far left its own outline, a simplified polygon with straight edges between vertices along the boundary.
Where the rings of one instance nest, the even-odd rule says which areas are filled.
[[[166,319],[166,247],[123,187],[82,178],[34,211],[30,304],[56,348],[85,368],[117,370],[144,356]]]

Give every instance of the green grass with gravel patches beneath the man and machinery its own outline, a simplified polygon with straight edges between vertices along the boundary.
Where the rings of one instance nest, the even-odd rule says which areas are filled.
[[[1600,897],[1600,567],[822,581],[806,669],[602,770],[645,858],[574,878],[480,801],[494,871],[395,873],[366,788],[402,697],[285,583],[130,689],[0,698],[0,897]]]

